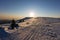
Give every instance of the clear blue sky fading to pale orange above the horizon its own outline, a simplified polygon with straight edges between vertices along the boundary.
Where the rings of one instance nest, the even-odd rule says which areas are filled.
[[[60,17],[59,0],[0,0],[0,16]],[[1,18],[0,17],[0,18]]]

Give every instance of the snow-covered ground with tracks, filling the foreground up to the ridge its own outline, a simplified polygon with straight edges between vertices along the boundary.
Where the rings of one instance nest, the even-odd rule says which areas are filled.
[[[31,18],[18,25],[14,30],[2,25],[0,40],[60,40],[60,18]]]

